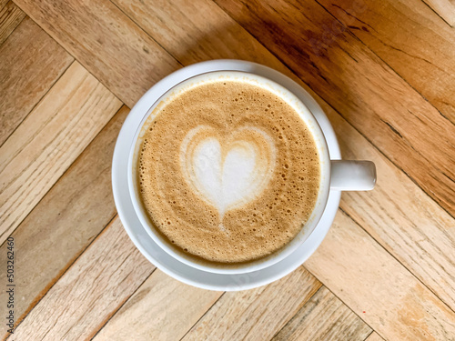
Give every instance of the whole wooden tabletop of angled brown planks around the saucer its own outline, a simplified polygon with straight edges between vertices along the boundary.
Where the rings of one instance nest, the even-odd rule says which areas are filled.
[[[454,340],[454,25],[451,0],[0,0],[1,335]],[[217,58],[292,77],[344,158],[378,169],[374,191],[343,193],[303,266],[237,293],[151,265],[110,184],[129,108],[169,73]]]

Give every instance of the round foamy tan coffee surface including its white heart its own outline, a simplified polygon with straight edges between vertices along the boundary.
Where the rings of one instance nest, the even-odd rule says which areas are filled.
[[[292,105],[265,86],[221,77],[190,84],[141,132],[137,186],[170,246],[207,262],[272,255],[316,204],[319,152]]]

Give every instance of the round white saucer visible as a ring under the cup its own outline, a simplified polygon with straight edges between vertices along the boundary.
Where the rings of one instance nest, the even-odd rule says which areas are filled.
[[[134,143],[136,129],[148,109],[157,99],[174,85],[194,75],[212,71],[244,71],[262,75],[287,87],[294,95],[308,106],[308,109],[319,122],[329,145],[331,160],[340,159],[337,137],[318,103],[297,83],[271,68],[239,60],[213,60],[184,67],[159,81],[136,103],[120,130],[112,162],[112,187],[118,216],[139,251],[161,271],[191,286],[218,291],[244,290],[264,286],[294,271],[308,259],[318,248],[331,226],[339,207],[340,192],[330,190],[329,201],[318,226],[298,249],[280,262],[264,269],[240,275],[222,275],[208,273],[187,266],[169,256],[153,239],[139,222],[130,200],[127,181],[128,155]]]

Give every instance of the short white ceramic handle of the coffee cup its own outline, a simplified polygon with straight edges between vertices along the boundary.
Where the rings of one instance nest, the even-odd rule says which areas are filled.
[[[330,189],[370,191],[376,185],[376,165],[371,161],[331,160]]]

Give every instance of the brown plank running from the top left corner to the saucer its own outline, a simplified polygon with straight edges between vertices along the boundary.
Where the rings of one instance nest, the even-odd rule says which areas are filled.
[[[129,107],[179,67],[109,0],[15,3]]]

